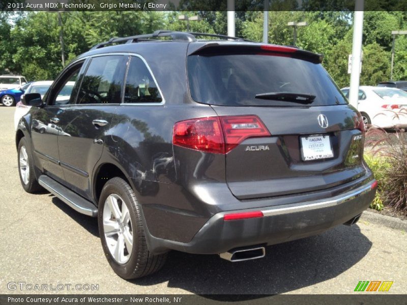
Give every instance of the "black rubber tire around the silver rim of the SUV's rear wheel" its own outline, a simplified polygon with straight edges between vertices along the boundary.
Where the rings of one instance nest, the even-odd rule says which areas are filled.
[[[122,264],[111,255],[103,226],[103,210],[106,199],[112,194],[119,195],[123,199],[121,204],[126,204],[131,220],[133,247],[128,261]],[[98,223],[100,239],[110,266],[117,275],[127,280],[141,278],[158,271],[164,265],[167,257],[166,253],[152,255],[149,252],[140,209],[134,191],[125,180],[114,177],[106,182],[99,199]]]

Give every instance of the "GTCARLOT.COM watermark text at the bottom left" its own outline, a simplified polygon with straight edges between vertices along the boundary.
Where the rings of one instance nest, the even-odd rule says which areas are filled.
[[[98,291],[99,284],[43,284],[26,282],[8,282],[8,290],[19,291]]]

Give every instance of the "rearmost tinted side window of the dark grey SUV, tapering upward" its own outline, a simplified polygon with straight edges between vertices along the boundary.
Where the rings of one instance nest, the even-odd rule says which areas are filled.
[[[160,103],[162,97],[149,69],[143,61],[131,57],[126,78],[125,103]]]

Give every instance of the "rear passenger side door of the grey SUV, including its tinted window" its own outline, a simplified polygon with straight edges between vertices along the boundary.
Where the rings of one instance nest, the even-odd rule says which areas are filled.
[[[125,55],[89,59],[76,104],[59,116],[59,155],[66,183],[89,199],[90,176],[102,156],[114,111],[122,100],[127,61]]]

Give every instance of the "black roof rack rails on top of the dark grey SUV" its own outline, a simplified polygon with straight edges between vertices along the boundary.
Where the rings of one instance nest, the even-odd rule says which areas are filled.
[[[230,36],[225,36],[225,35],[193,33],[193,32],[176,32],[176,31],[168,31],[165,29],[159,29],[158,31],[155,31],[152,34],[142,34],[142,35],[136,35],[136,36],[122,37],[122,38],[113,37],[113,38],[110,38],[108,41],[101,42],[101,43],[93,46],[91,48],[91,50],[99,49],[99,48],[105,47],[105,46],[113,44],[113,43],[126,42],[126,44],[127,44],[127,43],[135,43],[138,41],[152,41],[152,40],[154,40],[154,38],[157,38],[157,37],[170,37],[173,41],[193,42],[193,41],[196,41],[195,36],[217,37],[217,38],[232,39],[232,40],[237,40],[237,41],[250,41],[250,40],[243,39],[243,38],[236,38],[236,37],[230,37]]]

